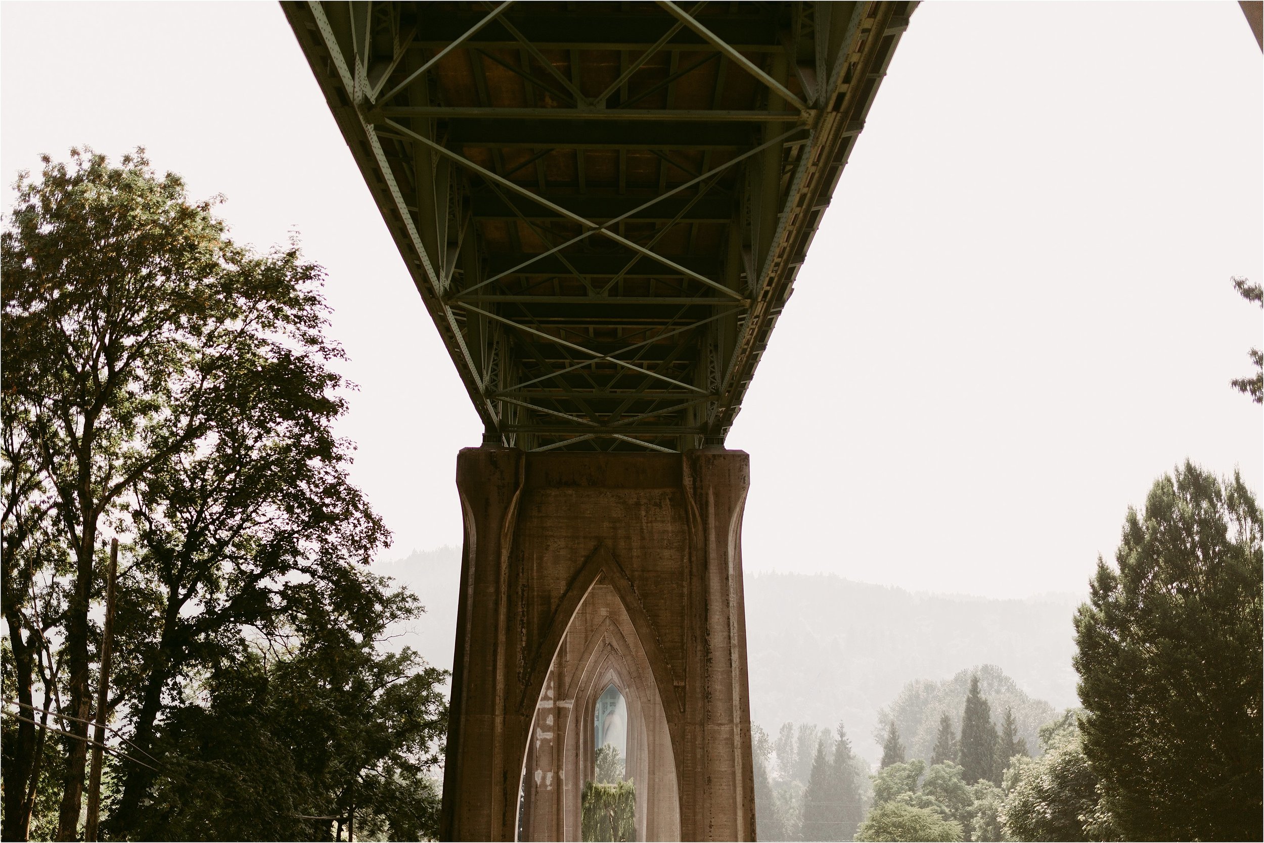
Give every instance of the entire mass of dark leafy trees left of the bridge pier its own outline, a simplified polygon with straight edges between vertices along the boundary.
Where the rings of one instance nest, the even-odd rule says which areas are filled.
[[[321,269],[211,211],[143,153],[72,150],[0,235],[4,682],[34,715],[6,710],[5,839],[78,833],[109,536],[111,837],[327,837],[362,808],[431,833],[442,676],[377,646],[420,605],[368,573],[388,533],[332,432]]]

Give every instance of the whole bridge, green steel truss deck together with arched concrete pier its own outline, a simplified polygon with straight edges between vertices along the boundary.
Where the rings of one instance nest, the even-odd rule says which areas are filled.
[[[723,442],[915,4],[282,5],[484,425],[441,834],[753,839]]]

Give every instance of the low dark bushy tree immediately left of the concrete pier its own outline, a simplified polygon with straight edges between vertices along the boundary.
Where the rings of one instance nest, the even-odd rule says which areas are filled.
[[[360,634],[325,618],[279,658],[245,642],[224,658],[204,685],[209,704],[167,713],[135,837],[327,838],[330,819],[312,818],[362,835],[436,835],[442,671],[374,647],[398,617],[389,604]]]

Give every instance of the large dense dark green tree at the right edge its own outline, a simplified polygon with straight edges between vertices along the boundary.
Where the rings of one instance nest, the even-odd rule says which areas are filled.
[[[1259,839],[1261,513],[1192,463],[1129,509],[1076,614],[1083,755],[1127,839]]]

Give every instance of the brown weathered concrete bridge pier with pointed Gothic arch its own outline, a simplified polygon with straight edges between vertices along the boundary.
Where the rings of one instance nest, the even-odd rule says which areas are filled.
[[[623,671],[624,695],[636,695],[647,763],[670,756],[675,767],[680,838],[753,839],[741,556],[748,478],[747,455],[719,449],[460,452],[456,485],[465,550],[444,839],[514,839],[518,787],[541,703],[552,691],[552,700],[570,701],[571,708],[586,704],[598,685],[604,688],[599,674],[607,666],[612,676]],[[588,616],[599,614],[602,605],[611,608],[612,598],[626,622],[614,612],[612,623],[594,623]],[[618,638],[626,642],[622,651]],[[617,657],[594,660],[593,652],[611,642]],[[592,652],[566,655],[571,643]],[[561,658],[555,661],[556,656]],[[546,686],[555,665],[559,674]],[[586,684],[580,679],[585,670]],[[565,682],[561,691],[559,677]],[[637,690],[642,680],[652,681],[652,693]],[[568,689],[579,701],[560,699]],[[629,698],[629,708],[631,703]],[[666,723],[669,747],[652,737],[656,709]],[[573,715],[575,733],[581,734],[581,713]],[[650,753],[655,743],[660,749]],[[581,747],[571,751],[580,753],[575,763],[586,757]],[[566,748],[560,752],[557,758]],[[561,763],[549,771],[564,770]],[[544,766],[536,766],[545,781]],[[645,775],[647,800],[666,810],[670,800],[661,792],[657,800],[653,796],[665,776],[652,768]],[[528,835],[578,838],[566,814],[578,815],[581,786],[576,781],[551,796],[555,819],[538,824],[533,818]],[[576,804],[569,805],[571,800]],[[651,815],[638,816],[638,835],[653,839],[675,825],[662,810],[642,809],[637,801]]]

